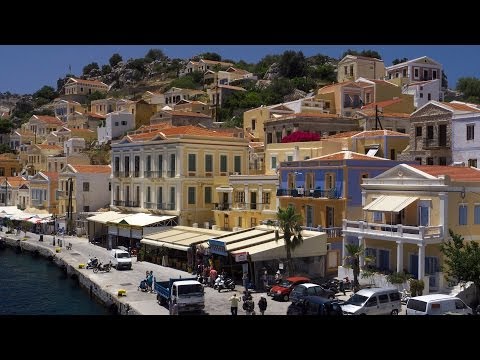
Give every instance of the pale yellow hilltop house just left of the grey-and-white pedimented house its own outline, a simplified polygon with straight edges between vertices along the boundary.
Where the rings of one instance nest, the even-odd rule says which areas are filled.
[[[383,79],[385,65],[383,60],[366,56],[346,55],[337,65],[337,81],[352,81],[360,77]]]

